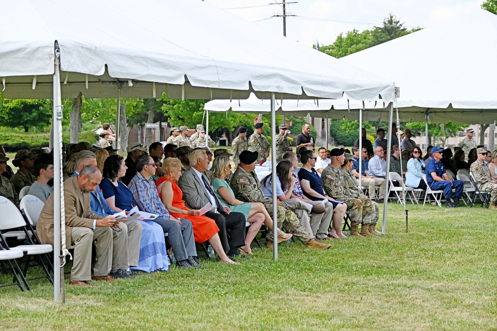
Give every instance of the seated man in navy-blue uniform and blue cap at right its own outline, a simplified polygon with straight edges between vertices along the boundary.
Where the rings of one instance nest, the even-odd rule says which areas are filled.
[[[442,158],[443,148],[438,148],[437,146],[431,149],[431,154],[433,159],[426,165],[426,181],[428,186],[432,190],[443,190],[445,194],[445,199],[447,200],[446,207],[460,207],[459,198],[461,198],[464,190],[463,181],[452,181],[445,172],[445,167],[443,166],[440,159]],[[452,190],[455,190],[454,199],[452,199]]]

